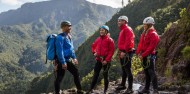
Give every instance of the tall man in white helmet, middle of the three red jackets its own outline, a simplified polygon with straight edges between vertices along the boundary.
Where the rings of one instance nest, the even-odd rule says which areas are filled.
[[[131,63],[133,57],[135,35],[132,28],[129,27],[127,23],[127,16],[120,16],[118,18],[118,27],[121,30],[118,38],[118,48],[122,69],[122,81],[121,84],[116,87],[116,91],[126,89],[125,83],[128,77],[128,88],[125,93],[133,93],[133,75],[131,72]]]

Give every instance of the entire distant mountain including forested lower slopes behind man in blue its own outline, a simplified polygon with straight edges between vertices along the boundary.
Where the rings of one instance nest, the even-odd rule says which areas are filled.
[[[27,3],[0,14],[0,93],[23,94],[30,81],[51,63],[44,64],[48,34],[60,33],[60,23],[73,24],[77,47],[108,21],[117,9],[85,0],[51,0]]]

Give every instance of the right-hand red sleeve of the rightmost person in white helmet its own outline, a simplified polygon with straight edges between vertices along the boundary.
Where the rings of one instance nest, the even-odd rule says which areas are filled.
[[[156,46],[158,45],[158,42],[159,42],[159,37],[155,33],[152,33],[150,45],[146,49],[146,51],[142,53],[142,57],[146,57],[149,54],[151,54],[154,51],[154,49],[156,48]]]

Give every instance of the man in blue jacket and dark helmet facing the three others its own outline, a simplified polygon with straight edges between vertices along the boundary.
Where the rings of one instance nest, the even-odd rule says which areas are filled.
[[[76,55],[74,52],[73,41],[71,38],[71,23],[69,21],[63,21],[61,23],[62,33],[56,37],[56,60],[55,66],[56,78],[55,78],[55,94],[59,94],[60,84],[64,77],[65,71],[68,70],[74,77],[74,83],[77,87],[77,93],[82,94],[82,88],[80,83],[80,77],[78,69],[75,64],[78,64]],[[69,84],[69,83],[68,83]]]

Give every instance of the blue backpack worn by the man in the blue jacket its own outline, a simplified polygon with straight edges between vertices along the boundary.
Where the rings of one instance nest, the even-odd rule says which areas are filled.
[[[57,34],[50,34],[48,35],[47,39],[46,39],[46,62],[47,60],[54,60],[56,58],[56,45],[55,45],[55,41],[56,41],[56,37]]]

